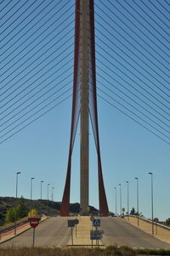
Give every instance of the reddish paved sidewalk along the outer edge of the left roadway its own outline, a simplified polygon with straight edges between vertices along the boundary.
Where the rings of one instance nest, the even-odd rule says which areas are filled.
[[[41,222],[44,221],[47,218],[48,218],[47,216],[42,216]],[[31,229],[31,226],[30,226],[30,223],[28,222],[28,223],[20,225],[16,228],[16,235],[14,235],[14,229],[13,230],[8,230],[7,232],[1,234],[0,243],[8,241],[8,240],[14,238],[14,236],[19,236],[21,233],[23,233],[23,232],[25,232],[26,230],[29,230],[29,229]]]

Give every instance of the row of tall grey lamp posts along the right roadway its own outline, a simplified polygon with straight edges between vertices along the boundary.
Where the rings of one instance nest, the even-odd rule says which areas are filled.
[[[153,173],[149,172],[151,176],[151,219],[152,219],[152,235],[154,234],[154,196],[153,196]],[[139,178],[135,177],[136,179],[136,200],[137,200],[137,221],[139,226]],[[129,220],[129,182],[127,183],[127,219]],[[120,187],[120,215],[122,217],[122,184],[119,184]],[[116,187],[114,187],[116,193]],[[115,194],[116,196],[116,194]],[[116,208],[116,197],[115,197],[115,208]],[[117,213],[117,210],[116,210]]]

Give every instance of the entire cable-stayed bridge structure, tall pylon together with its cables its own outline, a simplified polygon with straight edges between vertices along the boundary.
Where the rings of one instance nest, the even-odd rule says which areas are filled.
[[[0,144],[72,97],[61,205],[68,216],[71,154],[81,120],[81,208],[88,214],[88,120],[98,156],[99,212],[109,213],[97,98],[170,144],[169,11],[160,0],[2,1]]]

